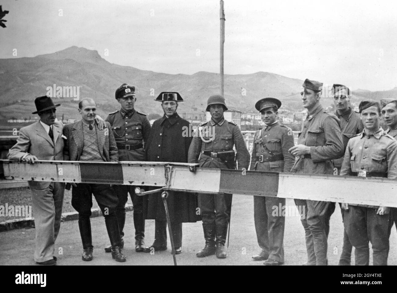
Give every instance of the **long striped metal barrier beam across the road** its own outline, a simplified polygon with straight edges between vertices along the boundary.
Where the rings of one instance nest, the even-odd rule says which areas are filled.
[[[194,193],[232,193],[397,207],[397,179],[189,167],[171,162],[0,160],[6,179],[157,186]]]

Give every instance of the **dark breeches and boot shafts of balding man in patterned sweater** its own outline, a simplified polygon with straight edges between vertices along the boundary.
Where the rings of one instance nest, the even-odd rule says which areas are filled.
[[[114,193],[114,189],[108,184],[77,183],[77,186],[73,186],[72,188],[71,204],[79,213],[79,228],[82,238],[81,240],[83,242],[83,249],[93,248],[90,224],[91,208],[93,206],[92,195],[94,195],[105,218],[106,228],[108,229],[109,235],[112,233],[114,234],[114,231],[109,231],[109,229],[118,230],[116,218],[116,205],[118,198]],[[119,235],[119,231],[117,231],[117,235]],[[118,245],[119,241],[120,240],[118,239]],[[114,241],[111,239],[111,242]]]

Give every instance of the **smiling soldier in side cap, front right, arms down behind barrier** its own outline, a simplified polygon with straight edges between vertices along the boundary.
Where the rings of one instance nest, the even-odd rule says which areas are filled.
[[[380,127],[380,104],[364,100],[358,106],[364,131],[347,143],[341,175],[397,178],[397,141]],[[366,195],[363,195],[364,197]],[[392,215],[387,206],[342,203],[343,224],[355,247],[355,264],[387,265]]]

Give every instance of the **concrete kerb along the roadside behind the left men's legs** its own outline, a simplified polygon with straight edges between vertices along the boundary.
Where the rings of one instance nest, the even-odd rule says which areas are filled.
[[[125,211],[130,212],[133,211],[132,204],[125,205]],[[91,218],[102,216],[102,212],[100,208],[91,209]],[[78,212],[69,212],[63,213],[61,216],[61,222],[73,221],[79,219]],[[0,222],[0,232],[10,231],[13,229],[22,229],[22,228],[34,228],[35,227],[35,218],[22,218],[15,220],[7,220],[4,222]]]

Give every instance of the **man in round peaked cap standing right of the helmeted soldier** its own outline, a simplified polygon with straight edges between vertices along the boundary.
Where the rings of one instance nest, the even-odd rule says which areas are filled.
[[[294,146],[292,129],[281,125],[278,109],[281,102],[276,98],[263,98],[255,108],[262,116],[265,126],[255,132],[251,155],[251,170],[290,172],[295,158],[288,152]],[[265,260],[268,266],[284,263],[284,226],[282,210],[274,214],[274,207],[285,206],[279,197],[254,196],[254,222],[258,245],[262,249],[254,260]]]

